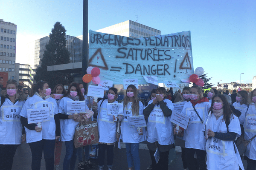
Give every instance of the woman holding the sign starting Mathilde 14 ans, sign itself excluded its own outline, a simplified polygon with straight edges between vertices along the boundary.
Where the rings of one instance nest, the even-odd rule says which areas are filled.
[[[25,126],[26,142],[32,153],[32,170],[40,170],[44,150],[46,170],[54,168],[55,140],[60,137],[58,108],[55,99],[50,97],[51,89],[47,82],[39,81],[33,86],[33,96],[26,100],[21,112],[20,122]],[[49,121],[28,124],[28,110],[49,108]]]

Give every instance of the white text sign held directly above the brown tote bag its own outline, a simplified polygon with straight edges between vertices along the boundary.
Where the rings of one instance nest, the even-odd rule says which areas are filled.
[[[67,101],[67,114],[85,113],[85,101]]]

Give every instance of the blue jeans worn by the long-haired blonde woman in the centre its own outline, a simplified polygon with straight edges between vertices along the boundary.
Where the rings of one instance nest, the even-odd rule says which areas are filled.
[[[132,162],[133,162],[135,170],[140,170],[140,156],[139,156],[140,143],[125,143],[125,146],[126,146],[126,156],[127,156],[128,167],[132,167]]]

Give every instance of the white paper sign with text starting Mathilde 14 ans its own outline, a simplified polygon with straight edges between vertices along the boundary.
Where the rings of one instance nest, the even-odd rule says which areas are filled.
[[[28,124],[46,122],[50,120],[49,108],[28,109]]]

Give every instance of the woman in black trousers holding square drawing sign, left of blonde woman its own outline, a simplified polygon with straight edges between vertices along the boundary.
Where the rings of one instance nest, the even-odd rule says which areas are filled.
[[[97,122],[99,129],[99,170],[103,170],[104,167],[105,150],[107,150],[107,167],[108,170],[111,170],[114,158],[113,147],[115,142],[119,141],[120,128],[118,128],[119,131],[117,131],[117,122],[122,121],[122,116],[118,116],[117,120],[114,121],[113,116],[107,114],[107,104],[118,103],[116,98],[117,89],[112,87],[108,91],[108,99],[100,100],[99,103],[93,107],[93,111],[98,113]]]

